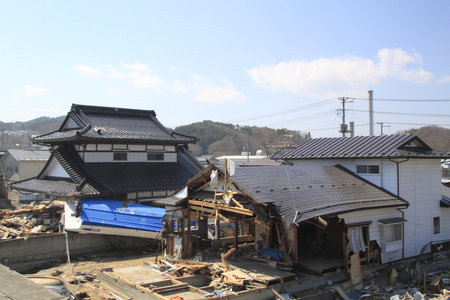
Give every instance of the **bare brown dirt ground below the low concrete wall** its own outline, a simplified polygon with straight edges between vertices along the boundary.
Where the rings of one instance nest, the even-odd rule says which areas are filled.
[[[72,258],[71,264],[55,263],[35,273],[27,273],[24,275],[32,276],[50,276],[62,279],[72,294],[86,293],[88,297],[84,299],[91,300],[117,300],[127,299],[126,296],[120,294],[105,285],[99,280],[94,279],[92,282],[76,282],[77,275],[91,274],[95,276],[96,268],[112,267],[113,269],[121,269],[135,266],[142,266],[144,261],[154,261],[156,252],[151,249],[148,252],[143,250],[128,251],[111,251],[101,254],[84,255],[82,257]],[[158,257],[160,259],[161,257]],[[56,276],[55,276],[56,275]]]

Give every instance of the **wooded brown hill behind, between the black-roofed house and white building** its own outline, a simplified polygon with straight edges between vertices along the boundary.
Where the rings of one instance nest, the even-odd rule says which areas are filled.
[[[179,126],[174,131],[196,136],[200,140],[190,149],[195,155],[236,155],[246,151],[249,146],[252,155],[257,150],[272,154],[282,147],[298,146],[310,136],[300,131],[271,129],[256,126],[237,126],[213,121],[197,122]]]

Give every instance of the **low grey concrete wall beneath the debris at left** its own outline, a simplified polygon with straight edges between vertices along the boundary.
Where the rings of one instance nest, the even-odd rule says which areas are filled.
[[[68,232],[71,259],[88,253],[135,249],[154,244],[148,239]],[[17,272],[26,272],[50,263],[67,261],[64,233],[0,241],[0,263]]]

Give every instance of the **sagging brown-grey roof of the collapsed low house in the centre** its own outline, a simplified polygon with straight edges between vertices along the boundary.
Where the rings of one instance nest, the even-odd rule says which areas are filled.
[[[340,166],[236,168],[231,178],[257,202],[273,202],[288,226],[317,216],[408,205]]]

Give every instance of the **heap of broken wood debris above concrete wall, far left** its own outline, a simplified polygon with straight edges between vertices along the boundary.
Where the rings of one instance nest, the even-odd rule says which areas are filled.
[[[5,240],[60,232],[63,212],[64,206],[56,202],[24,206],[17,210],[2,210],[0,237]]]

